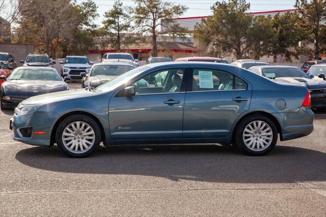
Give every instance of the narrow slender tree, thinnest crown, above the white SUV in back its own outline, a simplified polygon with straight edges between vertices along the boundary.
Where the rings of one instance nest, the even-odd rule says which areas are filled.
[[[128,8],[118,0],[114,3],[113,9],[105,12],[105,20],[103,21],[104,29],[110,35],[110,41],[112,46],[121,50],[121,43],[124,41],[123,33],[128,32],[130,29],[130,15],[128,14]]]

